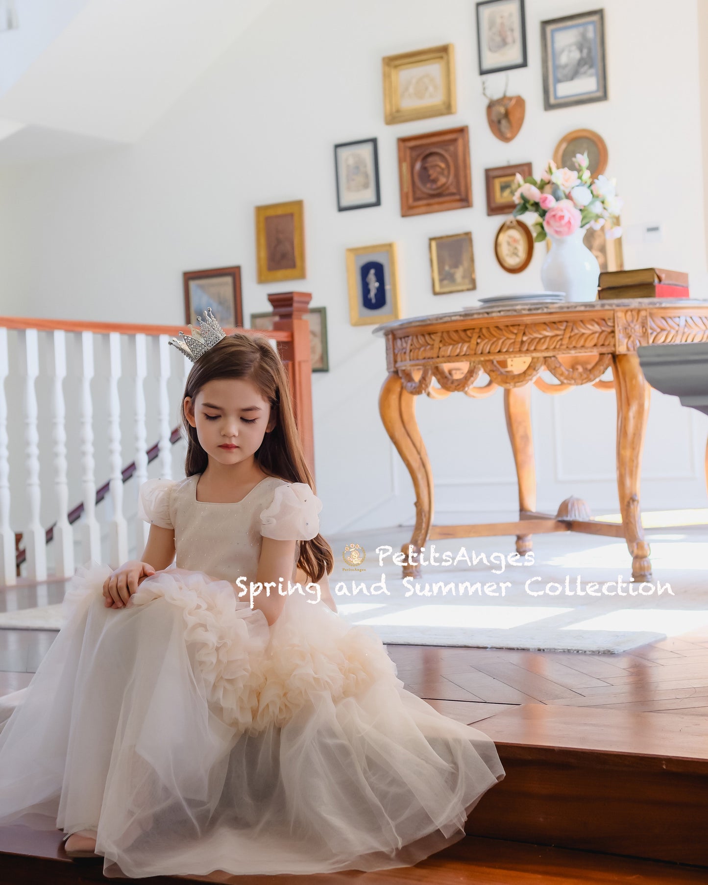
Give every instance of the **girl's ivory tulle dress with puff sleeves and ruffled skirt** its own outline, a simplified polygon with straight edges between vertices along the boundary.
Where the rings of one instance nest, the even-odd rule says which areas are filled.
[[[318,533],[308,485],[213,504],[198,479],[140,492],[176,563],[123,609],[104,605],[108,566],[79,568],[33,680],[0,699],[0,824],[96,829],[104,873],[131,877],[374,870],[457,842],[504,778],[494,743],[405,690],[373,630],[314,593],[272,627],[236,596],[261,536]]]

